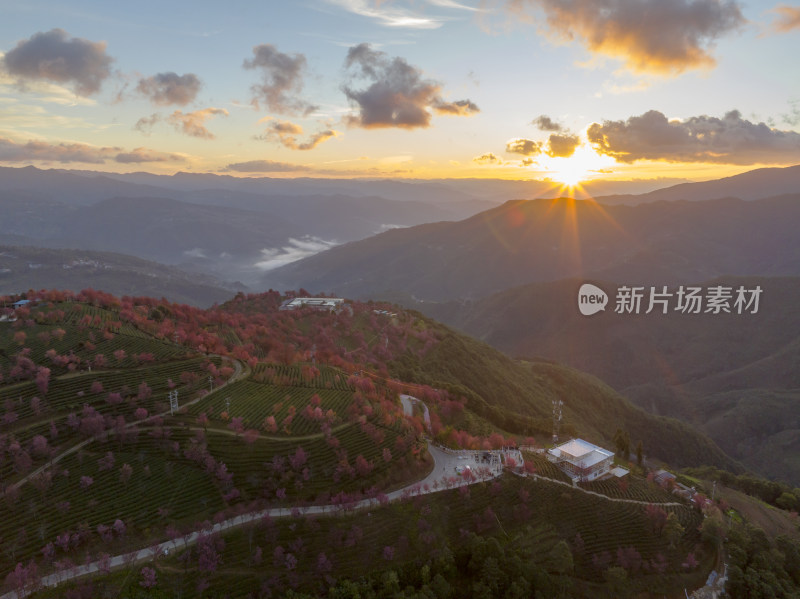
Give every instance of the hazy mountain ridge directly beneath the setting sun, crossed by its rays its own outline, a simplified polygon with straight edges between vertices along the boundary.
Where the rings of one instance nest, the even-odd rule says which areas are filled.
[[[354,297],[476,299],[566,277],[629,283],[800,275],[800,193],[756,201],[511,201],[455,223],[387,231],[265,275]]]

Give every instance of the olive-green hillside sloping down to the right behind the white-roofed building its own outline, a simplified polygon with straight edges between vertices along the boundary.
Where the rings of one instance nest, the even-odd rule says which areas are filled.
[[[713,441],[671,418],[634,407],[600,380],[548,362],[520,364],[489,346],[428,319],[425,330],[439,339],[424,357],[404,354],[389,363],[391,373],[447,389],[466,398],[466,407],[497,427],[520,435],[552,431],[552,402],[564,401],[562,433],[612,444],[615,431],[647,439],[646,451],[670,464],[742,467]],[[675,443],[681,439],[681,443]]]

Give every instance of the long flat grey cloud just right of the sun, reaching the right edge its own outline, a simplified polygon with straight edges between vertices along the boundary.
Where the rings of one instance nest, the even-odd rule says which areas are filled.
[[[594,149],[617,162],[638,160],[715,164],[796,164],[800,134],[742,118],[738,110],[723,118],[667,120],[656,110],[627,121],[594,123],[588,131]]]

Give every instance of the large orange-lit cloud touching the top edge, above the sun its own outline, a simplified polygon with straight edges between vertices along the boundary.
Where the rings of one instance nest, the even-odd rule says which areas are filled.
[[[558,41],[577,40],[593,54],[639,73],[676,75],[716,64],[714,42],[746,20],[736,0],[510,0],[533,6]],[[542,21],[537,19],[537,22]]]

